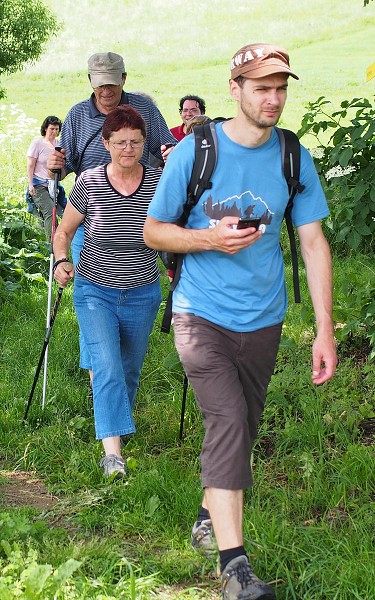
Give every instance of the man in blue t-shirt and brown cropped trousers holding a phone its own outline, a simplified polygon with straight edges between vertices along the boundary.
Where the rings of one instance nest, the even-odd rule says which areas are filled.
[[[212,552],[216,538],[225,600],[275,598],[244,548],[243,490],[252,485],[250,455],[287,308],[279,242],[289,195],[275,125],[289,77],[298,79],[282,48],[249,44],[235,53],[229,87],[237,114],[216,125],[212,187],[187,226],[176,225],[194,161],[188,136],[168,159],[144,227],[148,246],[184,254],[173,294],[174,336],[205,427],[204,495],[192,544]],[[311,378],[319,385],[337,364],[331,255],[320,225],[329,211],[303,147],[300,181],[305,189],[294,199],[292,218],[316,316]],[[238,228],[239,215],[260,217],[261,227]]]

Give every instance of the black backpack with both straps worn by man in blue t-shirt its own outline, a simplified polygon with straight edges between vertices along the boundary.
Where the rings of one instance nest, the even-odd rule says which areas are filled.
[[[289,190],[289,200],[285,209],[284,219],[289,235],[292,256],[294,300],[299,303],[301,302],[301,294],[298,276],[298,257],[291,213],[295,195],[297,192],[303,192],[305,189],[305,186],[299,182],[301,146],[298,137],[293,131],[281,129],[280,127],[275,127],[275,129],[279,136],[283,173]],[[183,208],[183,213],[177,221],[177,224],[181,227],[185,227],[189,219],[190,211],[197,204],[203,192],[212,187],[211,177],[217,162],[215,121],[194,127],[192,133],[195,137],[195,161],[187,189],[187,200]],[[180,279],[183,259],[183,254],[167,253],[167,256],[165,256],[165,254],[163,256],[163,262],[167,266],[169,273],[173,273],[173,279],[170,284],[161,325],[161,331],[163,333],[169,333],[170,331],[172,320],[172,294]]]

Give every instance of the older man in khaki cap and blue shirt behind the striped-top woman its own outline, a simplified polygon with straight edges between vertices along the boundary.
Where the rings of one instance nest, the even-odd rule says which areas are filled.
[[[93,88],[90,98],[73,106],[64,121],[61,131],[61,152],[53,152],[48,158],[50,171],[61,170],[61,179],[69,173],[76,177],[99,165],[111,161],[110,154],[102,142],[102,126],[106,115],[117,106],[130,104],[142,115],[147,130],[142,159],[140,162],[155,166],[164,165],[164,160],[174,146],[176,139],[170,133],[164,117],[157,106],[147,97],[123,90],[126,71],[122,56],[115,52],[99,52],[88,60],[88,78]],[[74,265],[78,263],[83,246],[83,226],[77,229],[72,243]],[[89,352],[80,336],[80,367],[90,371]],[[91,390],[91,387],[90,387]],[[91,393],[91,392],[90,392]]]

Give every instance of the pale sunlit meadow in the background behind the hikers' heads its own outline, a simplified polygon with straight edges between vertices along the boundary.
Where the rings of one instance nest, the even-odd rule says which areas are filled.
[[[61,15],[61,4],[48,4]],[[207,113],[231,116],[229,62],[249,42],[284,45],[299,82],[291,82],[283,122],[297,129],[307,102],[321,95],[338,101],[371,96],[366,67],[375,35],[375,7],[361,0],[273,0],[215,3],[180,0],[152,3],[111,0],[64,2],[64,29],[41,61],[4,79],[8,103],[39,121],[64,118],[86,98],[87,58],[112,50],[125,58],[126,89],[152,94],[170,126],[178,124],[178,100],[186,93],[206,99]]]

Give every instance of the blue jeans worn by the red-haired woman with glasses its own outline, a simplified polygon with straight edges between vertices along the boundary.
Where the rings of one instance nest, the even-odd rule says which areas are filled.
[[[77,273],[73,300],[94,373],[96,438],[134,433],[132,408],[161,302],[160,283],[121,290]]]

